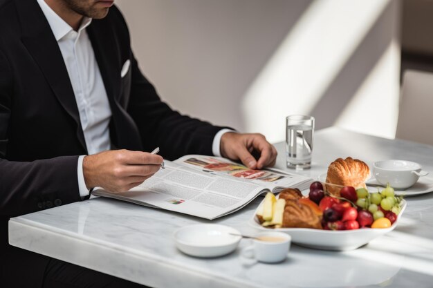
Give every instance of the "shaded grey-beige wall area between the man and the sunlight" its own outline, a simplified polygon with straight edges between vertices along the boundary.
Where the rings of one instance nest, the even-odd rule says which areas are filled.
[[[179,111],[245,130],[242,97],[312,0],[118,0],[133,50]]]

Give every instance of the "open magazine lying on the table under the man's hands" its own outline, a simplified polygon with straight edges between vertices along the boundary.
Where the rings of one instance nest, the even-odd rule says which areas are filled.
[[[252,170],[221,157],[186,155],[125,193],[101,188],[93,195],[115,198],[212,220],[245,207],[262,193],[307,189],[313,180],[276,169]]]

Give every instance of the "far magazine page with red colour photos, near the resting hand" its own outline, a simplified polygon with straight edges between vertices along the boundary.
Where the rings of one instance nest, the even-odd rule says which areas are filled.
[[[219,175],[227,179],[254,183],[274,193],[286,187],[296,187],[302,191],[308,189],[312,182],[312,179],[309,177],[286,173],[286,171],[277,169],[249,169],[243,164],[232,162],[222,157],[185,155],[174,162],[185,165],[190,169]]]

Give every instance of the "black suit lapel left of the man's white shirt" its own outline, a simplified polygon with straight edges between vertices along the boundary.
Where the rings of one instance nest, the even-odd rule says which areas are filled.
[[[75,120],[78,140],[84,151],[87,151],[68,70],[48,21],[36,1],[20,0],[15,3],[17,3],[23,29],[21,40],[42,70],[59,103]]]

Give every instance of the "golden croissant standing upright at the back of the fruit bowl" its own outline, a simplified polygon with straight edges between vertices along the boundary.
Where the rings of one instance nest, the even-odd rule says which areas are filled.
[[[370,169],[365,162],[358,159],[347,157],[346,159],[338,158],[328,167],[326,183],[338,184],[341,186],[353,186],[360,188],[365,186],[365,181],[369,177]],[[326,185],[329,193],[340,196],[340,187]]]

